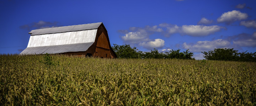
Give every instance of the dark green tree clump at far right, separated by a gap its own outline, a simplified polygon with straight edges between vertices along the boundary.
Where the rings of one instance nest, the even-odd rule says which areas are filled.
[[[238,53],[234,48],[215,48],[213,51],[202,53],[207,60],[256,61],[256,52],[246,52]]]

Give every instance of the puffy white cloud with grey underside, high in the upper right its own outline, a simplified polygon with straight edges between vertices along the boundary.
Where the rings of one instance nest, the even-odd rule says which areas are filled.
[[[217,19],[217,22],[231,24],[237,20],[247,19],[247,17],[247,13],[241,13],[240,11],[233,10],[223,13],[222,16]]]

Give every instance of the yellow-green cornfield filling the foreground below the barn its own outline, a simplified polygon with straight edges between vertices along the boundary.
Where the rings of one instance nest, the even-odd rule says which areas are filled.
[[[0,55],[0,105],[256,105],[256,63]]]

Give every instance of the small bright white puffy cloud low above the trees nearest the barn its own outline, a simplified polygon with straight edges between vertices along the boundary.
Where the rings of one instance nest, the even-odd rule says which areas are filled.
[[[147,49],[162,48],[165,45],[164,42],[162,39],[155,39],[154,41],[142,42],[139,45]]]

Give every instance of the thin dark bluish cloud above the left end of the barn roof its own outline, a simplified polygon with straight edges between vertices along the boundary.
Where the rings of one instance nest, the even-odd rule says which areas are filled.
[[[20,26],[21,29],[26,29],[26,30],[32,30],[32,29],[44,29],[44,28],[53,28],[53,27],[58,27],[57,26],[58,22],[45,22],[40,20],[39,22],[33,22],[30,24],[22,25]]]

